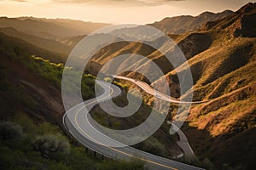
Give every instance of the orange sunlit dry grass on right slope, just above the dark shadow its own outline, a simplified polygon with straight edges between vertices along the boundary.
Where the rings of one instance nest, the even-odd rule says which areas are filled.
[[[245,116],[247,127],[256,127],[253,113],[256,111],[256,84],[224,94],[210,103],[195,106],[189,115],[190,126],[207,130],[213,137],[232,132],[232,127]],[[246,128],[246,127],[245,127]],[[233,129],[234,130],[234,129]]]

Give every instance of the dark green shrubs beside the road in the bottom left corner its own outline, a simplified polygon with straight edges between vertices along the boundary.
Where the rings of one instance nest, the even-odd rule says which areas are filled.
[[[49,122],[35,123],[19,113],[0,122],[1,169],[143,169],[143,162],[102,161],[85,153],[61,128]]]

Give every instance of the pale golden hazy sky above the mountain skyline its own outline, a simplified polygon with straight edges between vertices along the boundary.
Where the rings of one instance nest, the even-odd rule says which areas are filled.
[[[167,16],[237,10],[247,0],[0,0],[0,15],[69,18],[113,24],[152,23]]]

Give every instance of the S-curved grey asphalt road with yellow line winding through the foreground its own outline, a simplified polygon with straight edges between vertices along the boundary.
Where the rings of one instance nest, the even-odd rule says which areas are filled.
[[[106,145],[106,143],[108,144],[108,141],[119,142],[110,139],[108,136],[97,131],[96,128],[90,124],[92,117],[90,116],[89,111],[99,102],[118,96],[120,94],[120,89],[114,85],[111,85],[109,88],[107,82],[96,82],[102,86],[104,94],[97,99],[89,99],[84,101],[84,103],[75,105],[63,116],[63,124],[67,128],[67,131],[71,133],[75,139],[78,139],[81,144],[113,159],[130,161],[131,158],[137,158],[144,161],[149,169],[201,169],[178,161],[172,161],[164,157],[154,156],[153,154],[149,154],[143,150],[137,150],[130,146],[113,148]]]

